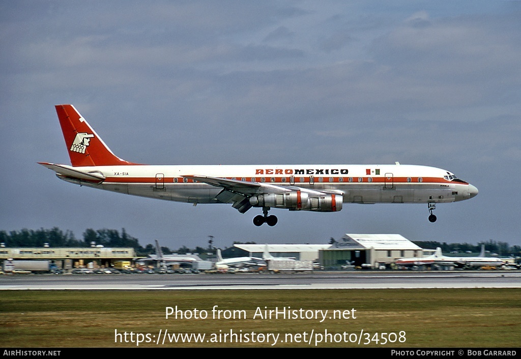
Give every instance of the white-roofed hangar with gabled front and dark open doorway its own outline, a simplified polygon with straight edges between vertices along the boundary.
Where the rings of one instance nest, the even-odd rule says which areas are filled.
[[[423,257],[423,249],[400,234],[345,234],[319,252],[324,268],[389,268],[397,258]]]

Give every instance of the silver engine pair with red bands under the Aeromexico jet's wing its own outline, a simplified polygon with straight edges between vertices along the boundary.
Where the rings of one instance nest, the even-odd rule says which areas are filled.
[[[342,195],[315,194],[292,190],[250,197],[250,205],[253,207],[286,208],[293,211],[338,212],[342,209],[342,200]]]

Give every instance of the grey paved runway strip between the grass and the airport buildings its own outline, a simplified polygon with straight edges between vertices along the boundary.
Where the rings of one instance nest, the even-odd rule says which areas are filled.
[[[0,290],[521,288],[521,271],[0,276]]]

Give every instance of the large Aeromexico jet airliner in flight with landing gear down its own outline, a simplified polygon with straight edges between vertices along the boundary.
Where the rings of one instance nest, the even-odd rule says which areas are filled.
[[[66,182],[111,192],[197,204],[262,208],[253,223],[277,224],[271,208],[339,212],[343,203],[436,204],[473,198],[478,189],[424,165],[145,165],[117,157],[73,105],[56,105],[71,165],[38,162]]]

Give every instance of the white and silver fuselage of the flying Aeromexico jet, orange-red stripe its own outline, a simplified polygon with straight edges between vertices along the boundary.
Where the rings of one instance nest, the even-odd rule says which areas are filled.
[[[94,183],[58,177],[111,192],[193,204],[221,202],[216,196],[222,188],[183,176],[308,188],[338,193],[344,203],[360,204],[455,202],[477,194],[476,187],[452,173],[422,165],[111,165],[75,169],[106,178]]]

